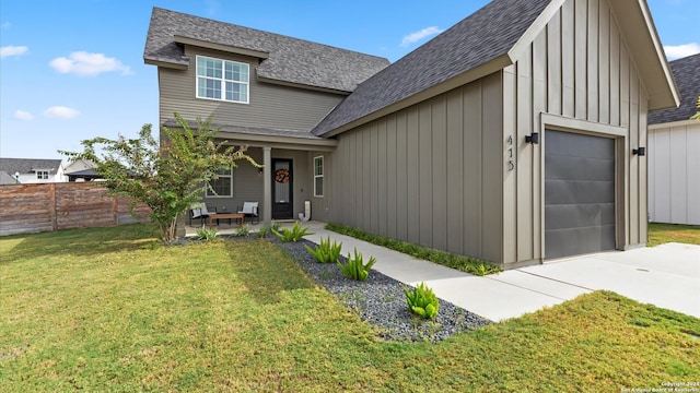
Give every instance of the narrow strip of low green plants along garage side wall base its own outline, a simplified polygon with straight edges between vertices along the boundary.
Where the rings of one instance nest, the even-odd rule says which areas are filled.
[[[348,225],[329,223],[326,224],[326,229],[478,276],[485,276],[503,271],[498,265],[478,258],[458,255],[451,252],[392,239],[386,236],[370,234]]]

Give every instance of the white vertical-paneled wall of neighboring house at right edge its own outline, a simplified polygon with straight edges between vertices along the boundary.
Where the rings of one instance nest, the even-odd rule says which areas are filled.
[[[650,219],[700,225],[700,122],[650,128],[648,156]]]

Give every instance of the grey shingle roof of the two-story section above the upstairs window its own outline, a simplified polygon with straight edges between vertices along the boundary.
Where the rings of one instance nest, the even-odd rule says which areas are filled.
[[[389,64],[375,56],[160,8],[153,8],[143,60],[184,68],[189,59],[183,44],[198,43],[264,59],[257,67],[259,79],[346,93]]]

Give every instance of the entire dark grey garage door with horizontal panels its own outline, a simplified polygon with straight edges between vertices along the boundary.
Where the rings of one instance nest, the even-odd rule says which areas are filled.
[[[545,135],[545,258],[615,249],[615,140]]]

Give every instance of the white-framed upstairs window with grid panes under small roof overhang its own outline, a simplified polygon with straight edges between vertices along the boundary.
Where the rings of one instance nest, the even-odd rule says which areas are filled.
[[[248,104],[249,66],[197,56],[197,98]]]

